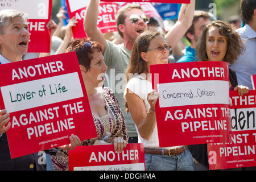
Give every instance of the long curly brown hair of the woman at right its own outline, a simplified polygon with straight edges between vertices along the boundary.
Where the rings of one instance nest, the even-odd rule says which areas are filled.
[[[203,34],[196,43],[196,56],[199,61],[208,61],[206,38],[208,30],[212,27],[218,27],[220,30],[219,34],[227,38],[228,49],[223,61],[233,64],[237,60],[237,57],[245,51],[245,46],[243,45],[240,35],[237,34],[231,24],[223,22],[222,20],[215,20],[205,26]]]

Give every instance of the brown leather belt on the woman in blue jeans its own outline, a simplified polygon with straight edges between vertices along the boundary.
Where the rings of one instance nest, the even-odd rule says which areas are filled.
[[[174,148],[174,149],[156,149],[156,148],[144,148],[144,153],[145,154],[157,154],[157,155],[162,155],[162,150],[164,155],[179,155],[185,152],[185,150],[188,150],[188,146],[180,147],[180,148]]]

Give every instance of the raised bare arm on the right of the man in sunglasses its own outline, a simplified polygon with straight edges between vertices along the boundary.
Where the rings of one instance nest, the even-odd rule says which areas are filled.
[[[179,18],[170,31],[166,34],[166,41],[173,48],[177,46],[180,40],[191,27],[195,12],[195,0],[190,4],[182,4],[180,7]]]

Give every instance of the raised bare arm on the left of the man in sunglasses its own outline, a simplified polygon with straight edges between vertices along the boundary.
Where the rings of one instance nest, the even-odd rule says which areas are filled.
[[[100,0],[89,1],[85,12],[84,31],[89,38],[91,38],[93,41],[99,42],[103,46],[104,53],[106,48],[106,39],[100,29],[97,27],[98,6],[100,6]]]

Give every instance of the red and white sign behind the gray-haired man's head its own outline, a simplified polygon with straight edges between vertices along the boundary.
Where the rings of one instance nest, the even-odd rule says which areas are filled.
[[[0,7],[0,10],[3,9],[14,9],[28,14],[28,52],[50,52],[51,32],[46,28],[46,24],[51,19],[52,0],[9,1]]]

